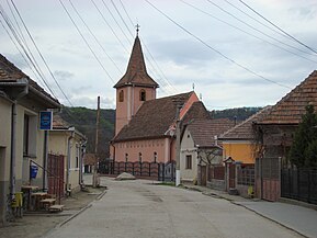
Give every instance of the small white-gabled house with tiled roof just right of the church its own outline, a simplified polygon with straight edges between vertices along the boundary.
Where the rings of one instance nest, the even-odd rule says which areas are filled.
[[[223,162],[218,136],[235,125],[228,118],[193,120],[181,138],[180,177],[182,182],[207,184],[210,167]]]

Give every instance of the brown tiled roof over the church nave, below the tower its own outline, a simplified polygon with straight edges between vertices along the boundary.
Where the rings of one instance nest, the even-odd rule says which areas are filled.
[[[144,102],[128,125],[124,126],[113,141],[159,138],[166,136],[176,121],[177,102],[186,102],[194,92],[188,92]],[[183,121],[208,116],[202,102],[195,102]]]

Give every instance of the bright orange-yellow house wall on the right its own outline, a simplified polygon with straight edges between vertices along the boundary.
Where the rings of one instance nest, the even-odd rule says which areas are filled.
[[[249,141],[223,141],[224,159],[231,157],[242,163],[254,163],[256,145]]]

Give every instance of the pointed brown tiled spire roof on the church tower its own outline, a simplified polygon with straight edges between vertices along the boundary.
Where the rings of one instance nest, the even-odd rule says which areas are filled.
[[[158,83],[147,73],[138,36],[135,38],[126,72],[114,86],[114,88],[121,88],[127,84],[151,88],[159,87]]]

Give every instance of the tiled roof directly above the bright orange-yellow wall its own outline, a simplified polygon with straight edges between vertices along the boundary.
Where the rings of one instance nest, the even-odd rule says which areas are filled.
[[[253,125],[259,120],[263,118],[270,112],[271,106],[265,106],[258,113],[251,115],[249,118],[244,121],[242,123],[236,125],[235,127],[225,132],[222,136],[219,136],[220,140],[252,140],[256,138]]]

